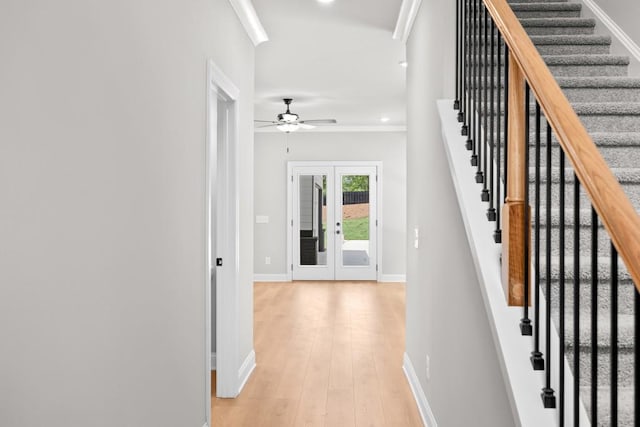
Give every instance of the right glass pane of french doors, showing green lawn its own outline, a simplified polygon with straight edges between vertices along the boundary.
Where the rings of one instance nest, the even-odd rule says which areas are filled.
[[[342,265],[368,266],[369,175],[342,176]]]

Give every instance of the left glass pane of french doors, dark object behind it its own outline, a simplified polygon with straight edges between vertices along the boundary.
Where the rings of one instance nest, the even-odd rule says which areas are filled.
[[[300,265],[327,265],[327,176],[299,180]]]

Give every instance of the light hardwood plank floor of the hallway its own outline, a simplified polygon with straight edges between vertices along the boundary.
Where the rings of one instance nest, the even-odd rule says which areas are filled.
[[[402,371],[398,283],[255,283],[257,367],[213,426],[422,426]]]

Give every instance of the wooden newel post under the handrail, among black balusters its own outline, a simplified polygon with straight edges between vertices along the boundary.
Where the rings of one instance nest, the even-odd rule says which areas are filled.
[[[511,306],[524,305],[525,245],[531,248],[531,209],[525,206],[525,80],[520,65],[509,56],[509,128],[507,194],[502,208],[502,284]],[[525,216],[527,218],[525,225]],[[525,233],[525,227],[527,228]],[[526,237],[525,237],[526,236]],[[529,287],[530,288],[530,287]],[[531,298],[528,298],[530,301]]]

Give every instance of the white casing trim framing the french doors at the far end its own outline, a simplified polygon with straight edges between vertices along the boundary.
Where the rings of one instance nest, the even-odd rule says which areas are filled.
[[[334,160],[334,161],[290,161],[287,162],[287,280],[293,280],[293,168],[296,167],[358,167],[358,166],[374,166],[377,171],[376,185],[376,217],[378,226],[376,227],[376,263],[378,270],[376,272],[376,280],[382,278],[382,229],[384,218],[382,216],[382,182],[383,170],[382,161],[368,160]]]

